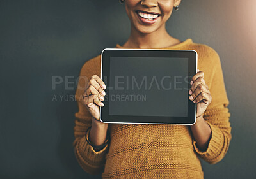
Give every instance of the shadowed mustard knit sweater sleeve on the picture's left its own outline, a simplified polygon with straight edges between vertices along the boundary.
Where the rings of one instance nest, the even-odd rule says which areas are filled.
[[[95,68],[95,67],[94,67]],[[93,66],[90,66],[87,62],[84,64],[79,75],[79,82],[76,89],[76,101],[79,111],[75,113],[75,127],[73,143],[76,159],[79,162],[81,168],[90,174],[99,174],[104,169],[105,155],[108,152],[107,144],[102,150],[95,151],[93,147],[86,141],[88,139],[88,127],[92,126],[92,115],[86,109],[83,103],[84,89],[88,83],[88,79],[94,73],[92,71]]]

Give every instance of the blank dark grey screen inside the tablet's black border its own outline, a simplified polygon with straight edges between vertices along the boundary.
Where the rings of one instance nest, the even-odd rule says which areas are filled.
[[[110,57],[109,115],[188,117],[186,57]]]

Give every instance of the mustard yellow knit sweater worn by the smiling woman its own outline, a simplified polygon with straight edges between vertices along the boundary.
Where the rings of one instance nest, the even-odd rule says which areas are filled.
[[[124,48],[116,45],[116,48]],[[74,150],[87,173],[104,171],[102,178],[204,178],[198,157],[214,164],[225,156],[231,140],[228,98],[221,62],[215,50],[187,39],[163,49],[193,49],[198,53],[198,69],[204,71],[212,102],[204,113],[211,127],[206,151],[200,151],[189,125],[109,124],[110,143],[99,152],[86,142],[85,132],[92,125],[83,104],[84,77],[100,76],[100,55],[87,61],[80,72],[76,90],[79,111],[75,114]]]

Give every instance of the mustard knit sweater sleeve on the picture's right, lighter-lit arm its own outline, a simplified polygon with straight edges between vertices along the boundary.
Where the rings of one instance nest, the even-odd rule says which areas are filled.
[[[201,151],[193,140],[196,153],[210,164],[221,161],[227,153],[231,140],[230,113],[227,108],[229,101],[225,90],[223,72],[221,69],[220,57],[213,50],[211,54],[215,68],[213,69],[212,80],[209,83],[209,90],[212,102],[204,112],[204,119],[211,127],[211,138],[207,150]],[[206,75],[206,74],[205,74]]]

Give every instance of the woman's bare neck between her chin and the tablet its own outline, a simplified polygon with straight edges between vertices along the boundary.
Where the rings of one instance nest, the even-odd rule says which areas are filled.
[[[127,48],[164,48],[180,43],[166,31],[165,25],[150,34],[143,34],[134,27],[131,28],[131,34],[123,47]]]

